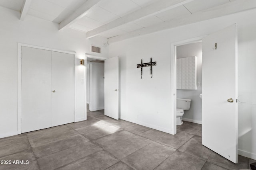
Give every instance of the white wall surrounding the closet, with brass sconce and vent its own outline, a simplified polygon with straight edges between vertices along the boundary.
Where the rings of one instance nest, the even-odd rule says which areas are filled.
[[[76,121],[79,121],[86,119],[86,66],[81,66],[79,59],[90,52],[91,43],[102,46],[106,42],[100,38],[89,41],[86,33],[74,29],[58,31],[57,23],[32,16],[26,16],[24,21],[19,18],[20,12],[0,7],[0,138],[18,134],[18,43],[76,52]],[[107,48],[102,49],[102,56],[107,53]]]

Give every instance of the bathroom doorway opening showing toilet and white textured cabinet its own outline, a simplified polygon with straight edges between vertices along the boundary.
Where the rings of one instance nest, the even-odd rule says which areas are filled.
[[[176,77],[177,128],[202,124],[202,40],[176,46]]]

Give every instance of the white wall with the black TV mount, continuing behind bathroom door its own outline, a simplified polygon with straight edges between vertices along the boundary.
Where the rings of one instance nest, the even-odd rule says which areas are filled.
[[[246,20],[245,18],[251,18]],[[170,131],[170,56],[171,43],[207,35],[224,27],[238,25],[238,149],[239,153],[256,159],[256,9],[159,31],[109,46],[109,56],[120,57],[120,118],[158,130]],[[140,69],[136,64],[157,62]]]

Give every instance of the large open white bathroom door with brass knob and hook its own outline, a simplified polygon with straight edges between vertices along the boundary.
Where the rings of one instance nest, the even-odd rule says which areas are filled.
[[[202,51],[202,145],[237,163],[236,24],[203,38]]]

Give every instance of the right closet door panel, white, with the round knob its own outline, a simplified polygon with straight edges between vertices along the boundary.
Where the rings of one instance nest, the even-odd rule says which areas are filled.
[[[52,51],[52,126],[74,122],[74,55]]]

